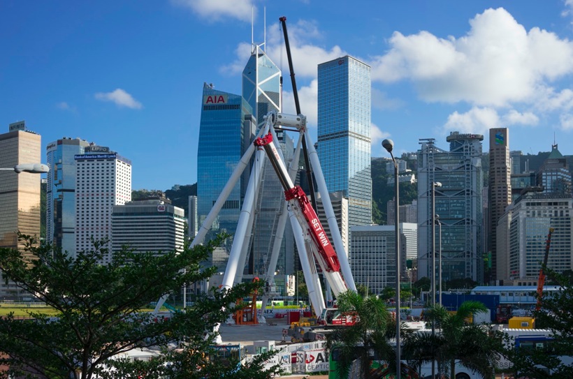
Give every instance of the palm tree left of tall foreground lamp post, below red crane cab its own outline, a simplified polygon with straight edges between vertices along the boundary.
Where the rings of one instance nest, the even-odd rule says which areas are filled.
[[[328,336],[328,350],[337,350],[338,377],[347,378],[355,360],[358,360],[361,378],[375,377],[371,371],[373,359],[388,362],[389,368],[395,371],[395,350],[387,335],[387,332],[391,332],[389,327],[392,321],[382,299],[362,297],[349,290],[340,294],[337,302],[342,313],[351,313],[356,317],[354,325],[335,329]]]

